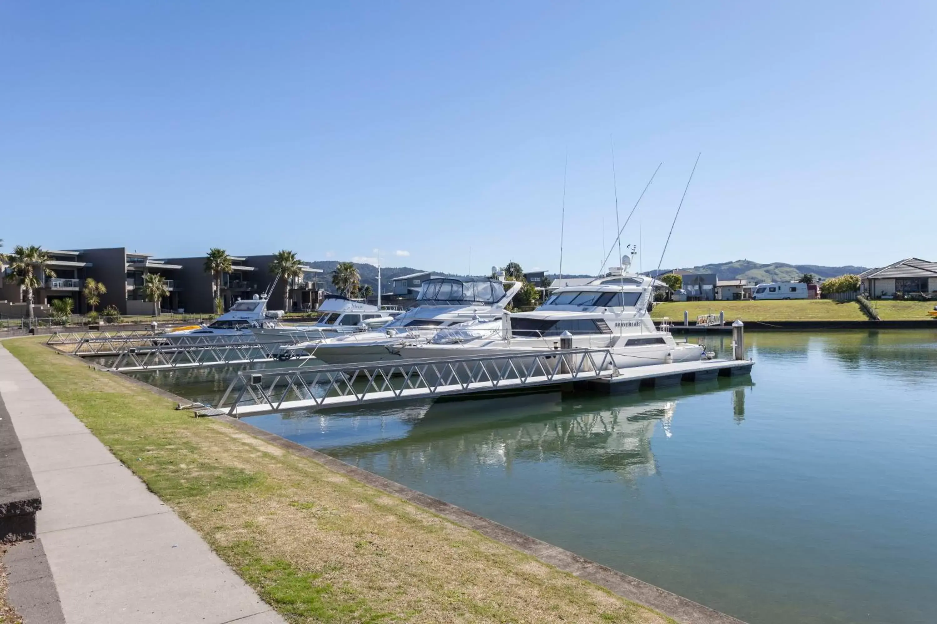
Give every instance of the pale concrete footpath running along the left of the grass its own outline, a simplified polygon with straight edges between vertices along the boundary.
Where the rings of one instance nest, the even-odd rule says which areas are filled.
[[[284,621],[2,344],[0,399],[42,500],[4,561],[26,624]]]

